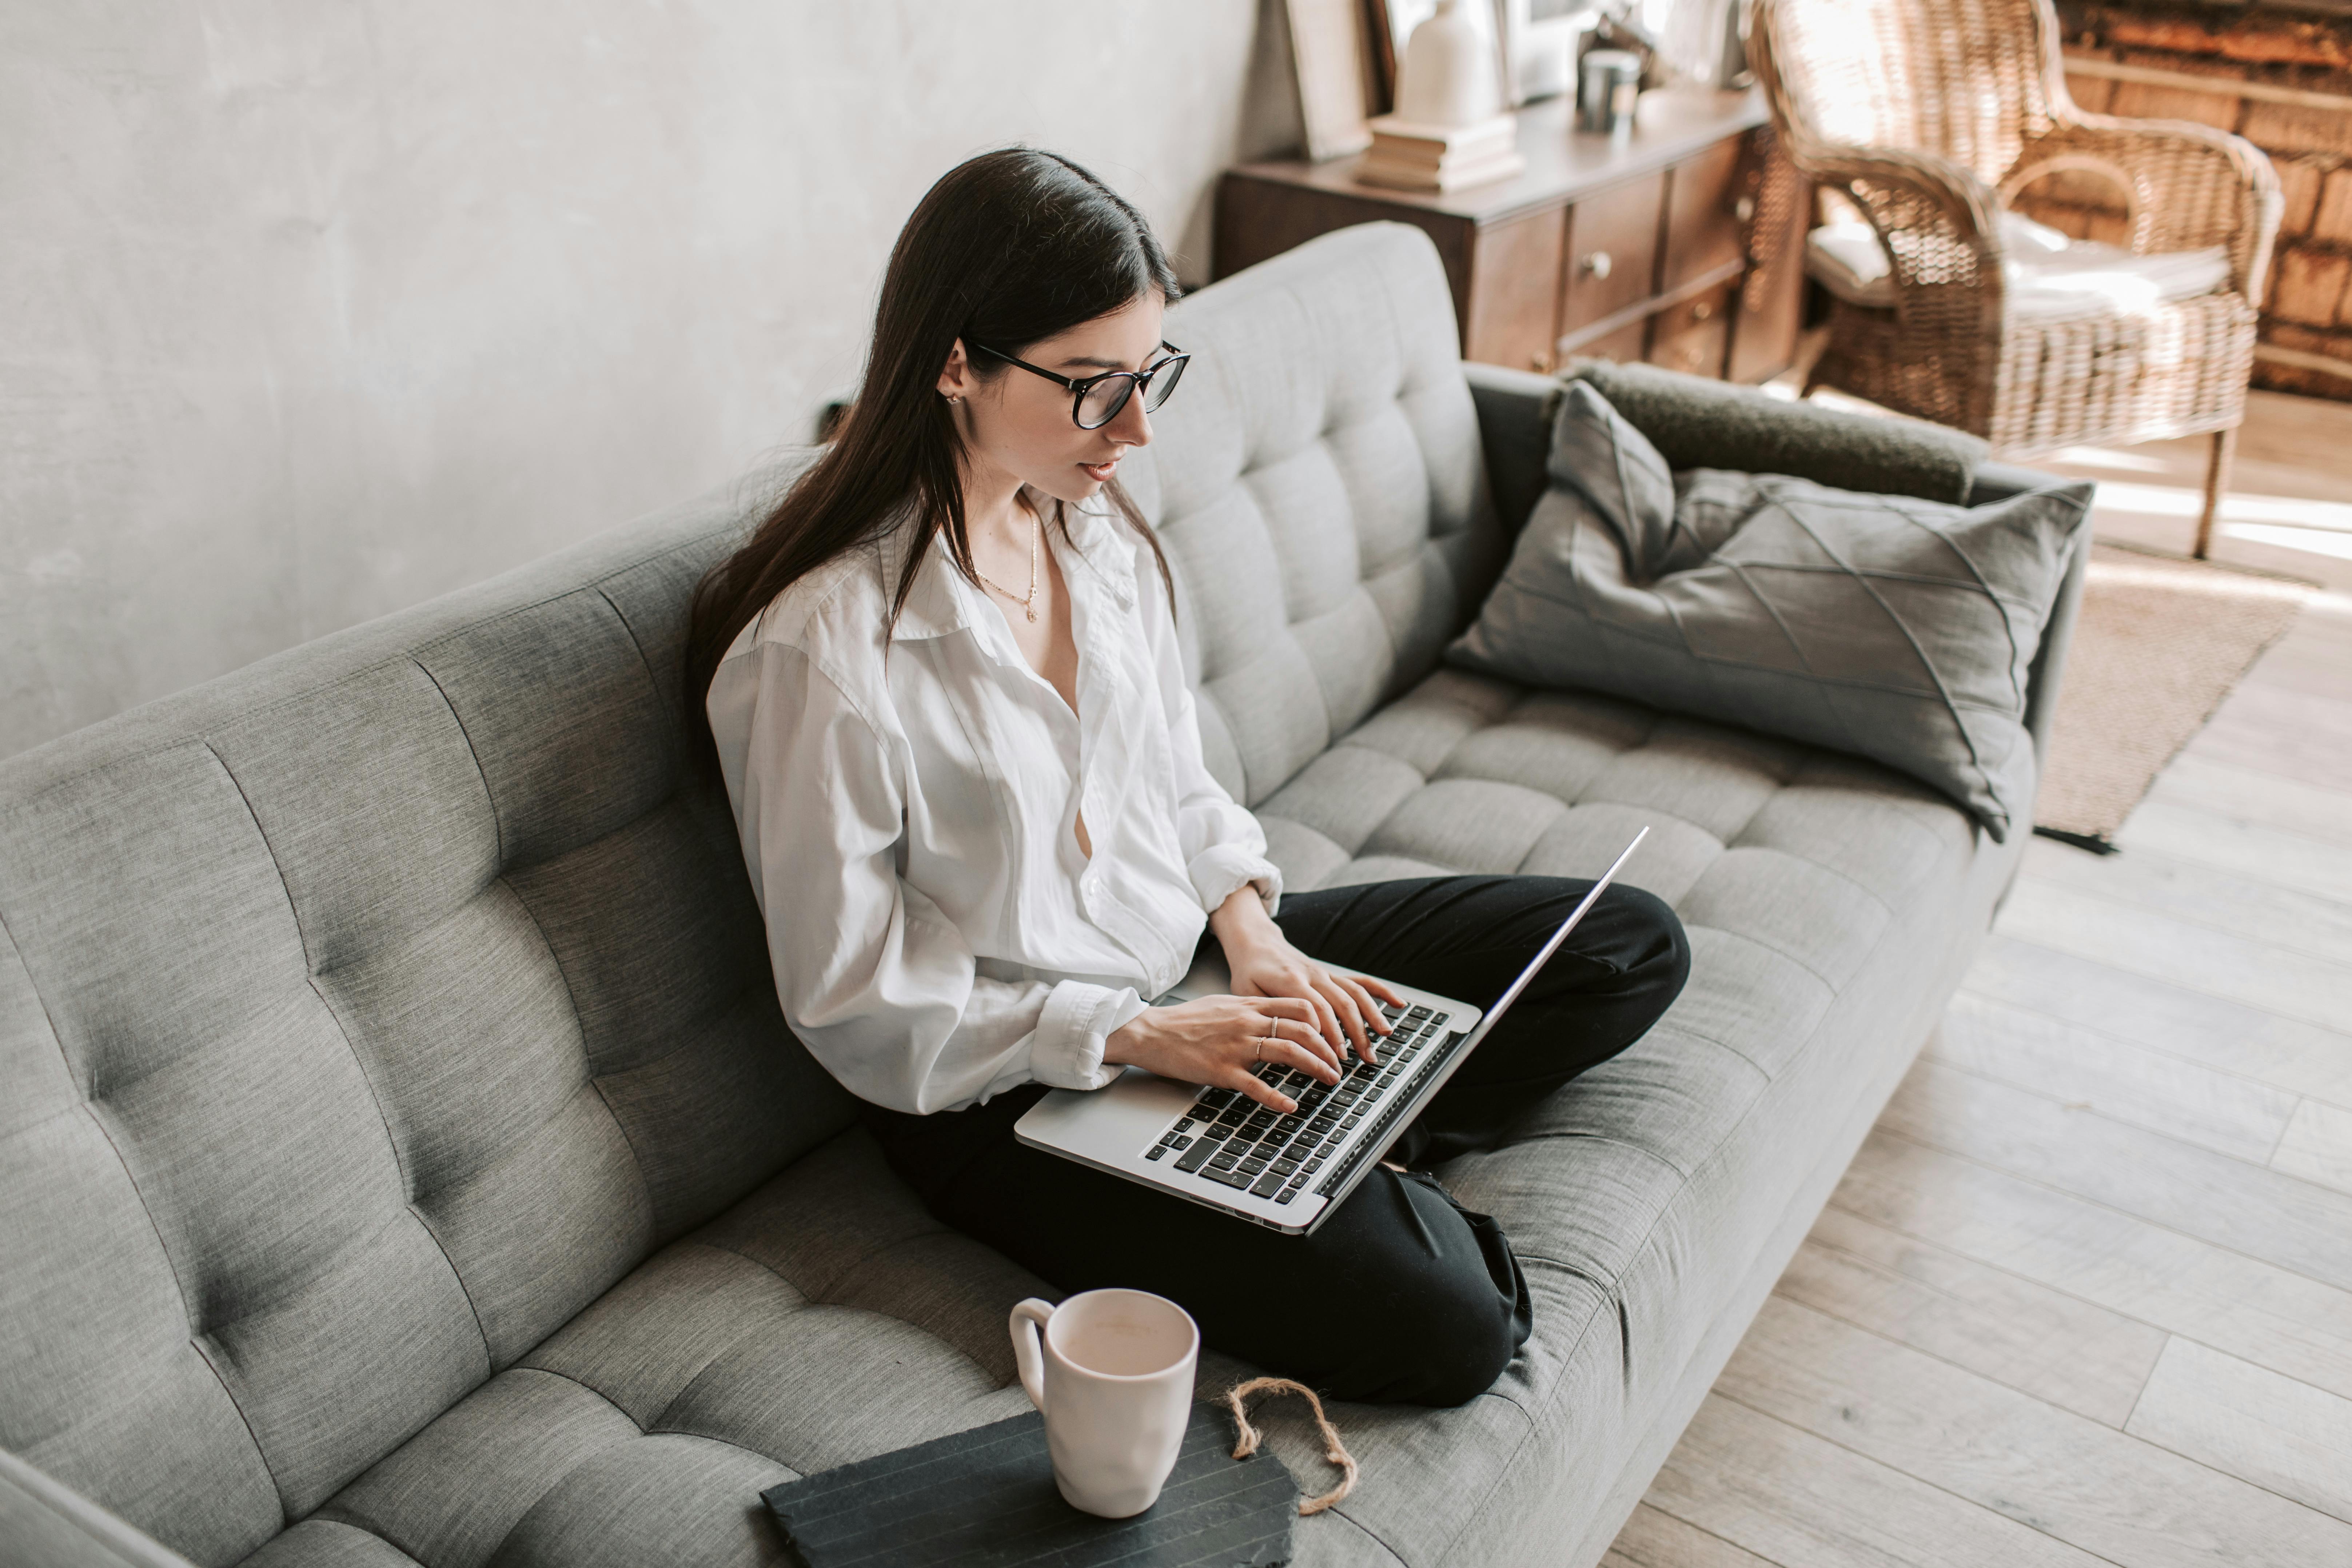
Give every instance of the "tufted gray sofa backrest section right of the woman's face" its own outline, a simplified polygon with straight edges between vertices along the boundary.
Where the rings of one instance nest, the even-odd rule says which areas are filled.
[[[1508,543],[1418,228],[1310,240],[1167,336],[1192,364],[1129,484],[1176,576],[1209,766],[1254,806],[1435,668]]]

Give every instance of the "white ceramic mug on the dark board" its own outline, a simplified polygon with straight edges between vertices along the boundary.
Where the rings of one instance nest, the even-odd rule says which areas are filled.
[[[1160,1502],[1192,1415],[1192,1314],[1150,1291],[1082,1291],[1058,1307],[1033,1295],[1011,1331],[1070,1507],[1129,1519]]]

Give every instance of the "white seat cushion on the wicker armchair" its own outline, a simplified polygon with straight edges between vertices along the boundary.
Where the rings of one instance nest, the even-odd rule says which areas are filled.
[[[2018,212],[2002,214],[2002,249],[2009,317],[2016,322],[2129,315],[2213,294],[2230,282],[2230,252],[2220,244],[2136,256],[2117,244],[2070,240]],[[1870,310],[1896,306],[1886,247],[1860,219],[1823,223],[1806,235],[1804,270],[1849,306]]]

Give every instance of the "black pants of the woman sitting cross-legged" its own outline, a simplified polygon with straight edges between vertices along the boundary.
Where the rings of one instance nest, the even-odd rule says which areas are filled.
[[[1590,882],[1430,877],[1294,893],[1284,936],[1336,969],[1479,1006],[1543,947]],[[1129,1286],[1181,1302],[1202,1340],[1338,1399],[1456,1406],[1503,1373],[1531,1328],[1501,1227],[1423,1166],[1501,1143],[1510,1121],[1649,1030],[1689,976],[1675,912],[1611,886],[1510,1013],[1310,1237],[1284,1237],[1023,1147],[1044,1093],[908,1117],[868,1105],[891,1168],[948,1225],[1063,1291]]]

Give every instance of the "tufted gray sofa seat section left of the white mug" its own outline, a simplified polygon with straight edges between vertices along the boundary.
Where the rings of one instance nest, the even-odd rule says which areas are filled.
[[[1044,1281],[934,1220],[854,1128],[647,1258],[247,1559],[769,1563],[760,1490],[1028,1408]]]

